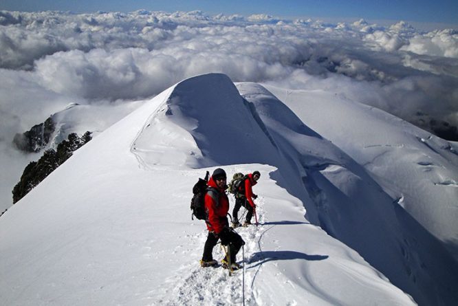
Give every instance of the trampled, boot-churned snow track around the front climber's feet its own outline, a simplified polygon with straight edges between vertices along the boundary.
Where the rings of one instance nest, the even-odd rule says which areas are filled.
[[[166,289],[163,292],[152,297],[155,302],[160,305],[243,305],[244,270],[245,305],[261,305],[256,289],[256,278],[262,269],[259,254],[263,252],[263,234],[272,226],[263,226],[266,218],[262,209],[262,197],[259,197],[258,203],[259,226],[253,223],[251,226],[236,229],[246,242],[245,262],[242,262],[242,249],[237,254],[237,263],[243,265],[241,269],[232,271],[232,276],[229,276],[228,270],[222,265],[200,267],[199,259],[206,239],[206,231],[203,230],[201,234],[190,237],[190,245],[196,247],[192,258],[179,267],[175,276],[166,279],[165,283],[175,283],[175,286],[164,286]],[[204,224],[202,228],[204,229]],[[257,258],[254,258],[253,254],[258,254],[255,256]],[[219,245],[214,248],[213,256],[221,263],[225,254]]]

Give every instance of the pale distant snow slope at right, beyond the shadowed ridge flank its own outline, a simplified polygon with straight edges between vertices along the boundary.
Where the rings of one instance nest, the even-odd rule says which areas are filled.
[[[456,142],[329,92],[268,88],[309,127],[363,165],[384,192],[458,259]]]

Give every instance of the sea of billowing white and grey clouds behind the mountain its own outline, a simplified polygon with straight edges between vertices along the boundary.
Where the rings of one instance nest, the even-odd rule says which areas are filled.
[[[0,145],[69,103],[149,98],[197,74],[324,89],[458,140],[458,32],[203,12],[0,12]],[[324,119],[325,120],[325,119]]]

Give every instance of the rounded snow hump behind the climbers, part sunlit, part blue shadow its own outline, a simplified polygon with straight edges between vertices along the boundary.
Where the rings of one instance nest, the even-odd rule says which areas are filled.
[[[278,158],[250,105],[223,74],[177,84],[133,146],[150,165],[272,164]]]

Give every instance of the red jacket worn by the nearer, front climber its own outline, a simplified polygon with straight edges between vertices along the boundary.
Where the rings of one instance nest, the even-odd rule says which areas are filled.
[[[229,211],[229,199],[228,195],[226,195],[226,190],[218,188],[212,177],[208,180],[208,186],[215,188],[218,193],[215,195],[215,193],[209,191],[205,195],[205,209],[208,215],[207,228],[210,232],[214,231],[219,234],[225,226],[229,225],[228,217],[226,217]],[[217,196],[218,200],[215,201],[212,195]]]

